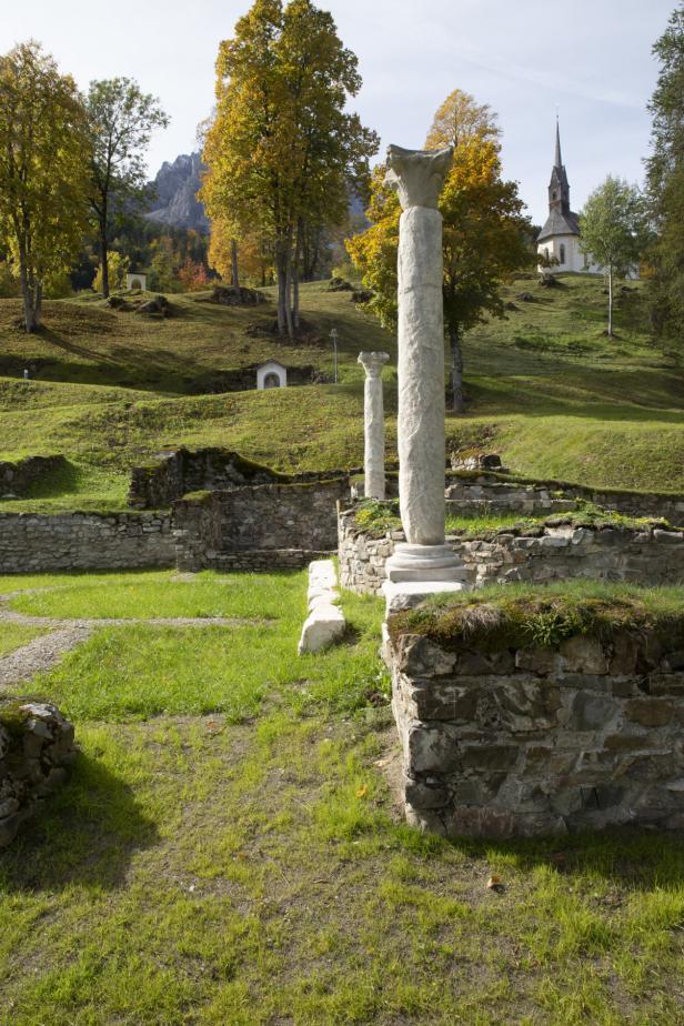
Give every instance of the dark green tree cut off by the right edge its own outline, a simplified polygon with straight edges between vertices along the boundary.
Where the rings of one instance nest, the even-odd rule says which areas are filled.
[[[647,161],[652,321],[663,336],[684,333],[684,6],[673,11],[653,47],[661,64],[651,100],[652,152]]]

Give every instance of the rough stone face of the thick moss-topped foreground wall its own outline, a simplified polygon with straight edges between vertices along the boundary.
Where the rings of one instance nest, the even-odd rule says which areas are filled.
[[[493,837],[684,827],[684,651],[644,632],[475,647],[386,645],[411,823]]]

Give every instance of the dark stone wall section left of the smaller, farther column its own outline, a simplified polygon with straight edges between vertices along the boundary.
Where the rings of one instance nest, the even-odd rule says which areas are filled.
[[[336,502],[349,479],[265,484],[207,492],[173,505],[177,565],[181,570],[302,566],[336,547]],[[264,555],[255,556],[256,552]],[[251,555],[249,555],[251,553]],[[270,564],[269,564],[270,561]],[[278,562],[276,562],[278,561]]]

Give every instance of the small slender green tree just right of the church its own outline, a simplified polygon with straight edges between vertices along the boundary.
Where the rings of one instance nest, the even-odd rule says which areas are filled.
[[[615,278],[638,264],[644,247],[644,205],[635,185],[607,175],[580,214],[580,248],[605,270],[608,283],[608,336],[613,336]]]

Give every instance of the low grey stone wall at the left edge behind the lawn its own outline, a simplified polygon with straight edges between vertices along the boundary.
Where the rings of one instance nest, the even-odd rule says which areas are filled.
[[[173,566],[164,513],[0,513],[0,573]]]

